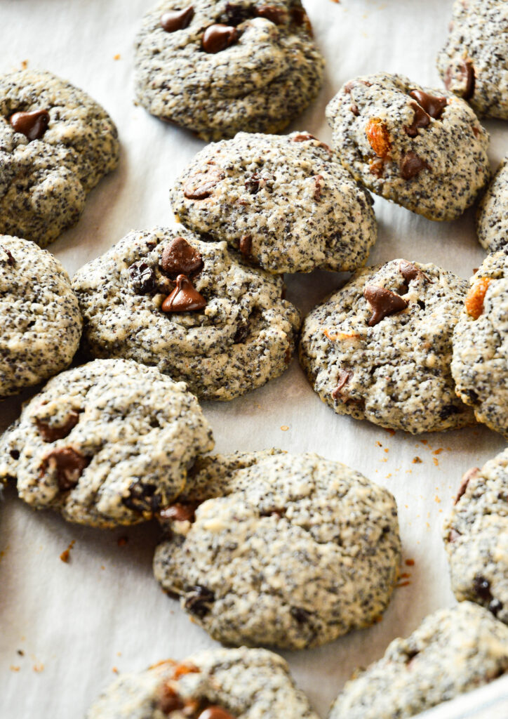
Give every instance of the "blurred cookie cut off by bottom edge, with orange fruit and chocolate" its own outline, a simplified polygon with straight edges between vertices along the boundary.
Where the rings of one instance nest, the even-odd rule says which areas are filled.
[[[213,649],[121,674],[86,719],[318,719],[287,662],[266,649]]]

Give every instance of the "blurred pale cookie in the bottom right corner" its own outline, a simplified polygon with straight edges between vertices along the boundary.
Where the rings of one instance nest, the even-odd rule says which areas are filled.
[[[426,617],[351,679],[328,719],[406,719],[508,671],[508,628],[463,602]]]

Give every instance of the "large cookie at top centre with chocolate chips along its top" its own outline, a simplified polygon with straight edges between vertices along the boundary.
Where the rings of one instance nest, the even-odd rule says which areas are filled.
[[[140,105],[211,140],[280,132],[317,96],[324,60],[300,0],[162,0],[134,66]]]

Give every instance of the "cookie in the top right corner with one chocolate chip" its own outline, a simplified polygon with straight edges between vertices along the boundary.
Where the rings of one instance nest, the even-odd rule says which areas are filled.
[[[486,117],[508,119],[508,14],[503,0],[456,0],[438,70],[446,88]]]

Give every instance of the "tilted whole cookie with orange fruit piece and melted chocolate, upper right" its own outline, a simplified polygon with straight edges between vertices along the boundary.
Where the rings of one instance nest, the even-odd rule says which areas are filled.
[[[451,92],[366,75],[343,86],[326,116],[354,178],[428,219],[456,219],[489,180],[489,136]]]

